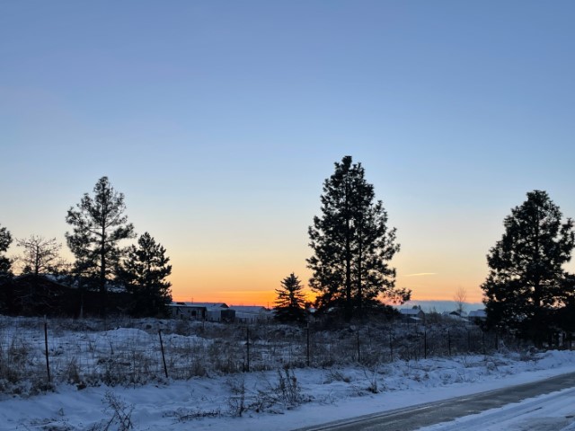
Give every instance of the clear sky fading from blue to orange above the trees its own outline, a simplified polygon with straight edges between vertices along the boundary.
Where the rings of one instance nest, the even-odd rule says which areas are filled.
[[[0,224],[69,254],[66,210],[106,175],[174,299],[272,304],[310,277],[349,154],[397,285],[481,301],[527,191],[575,217],[573,22],[571,1],[0,0]]]

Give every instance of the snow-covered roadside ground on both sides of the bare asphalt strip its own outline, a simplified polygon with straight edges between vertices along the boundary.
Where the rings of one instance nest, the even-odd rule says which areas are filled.
[[[29,398],[4,396],[0,429],[291,430],[574,371],[575,352],[550,351],[230,374],[130,388],[58,384]],[[548,403],[554,408],[530,412],[526,400],[526,408],[518,408],[522,415],[513,405],[426,430],[474,429],[469,426],[478,421],[482,430],[535,429],[521,427],[521,421],[539,414],[554,427],[536,429],[574,429],[569,397],[547,397],[555,397]]]

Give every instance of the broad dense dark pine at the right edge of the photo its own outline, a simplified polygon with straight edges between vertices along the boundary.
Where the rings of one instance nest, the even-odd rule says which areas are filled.
[[[575,246],[573,221],[562,223],[560,208],[545,191],[534,190],[504,226],[487,255],[490,273],[482,284],[487,324],[541,345],[558,323],[557,311],[575,298],[573,276],[562,268]]]

